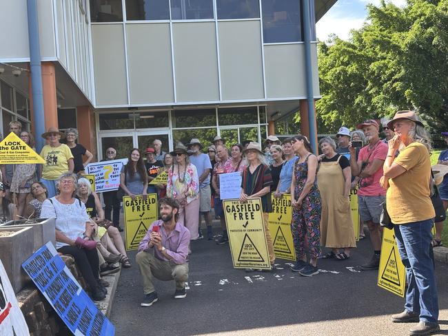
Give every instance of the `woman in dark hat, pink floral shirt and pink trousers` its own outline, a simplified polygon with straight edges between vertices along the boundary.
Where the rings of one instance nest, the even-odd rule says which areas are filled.
[[[187,149],[177,145],[172,151],[174,164],[168,171],[166,196],[181,204],[178,222],[190,231],[190,239],[199,237],[199,179],[196,167],[188,159]]]

